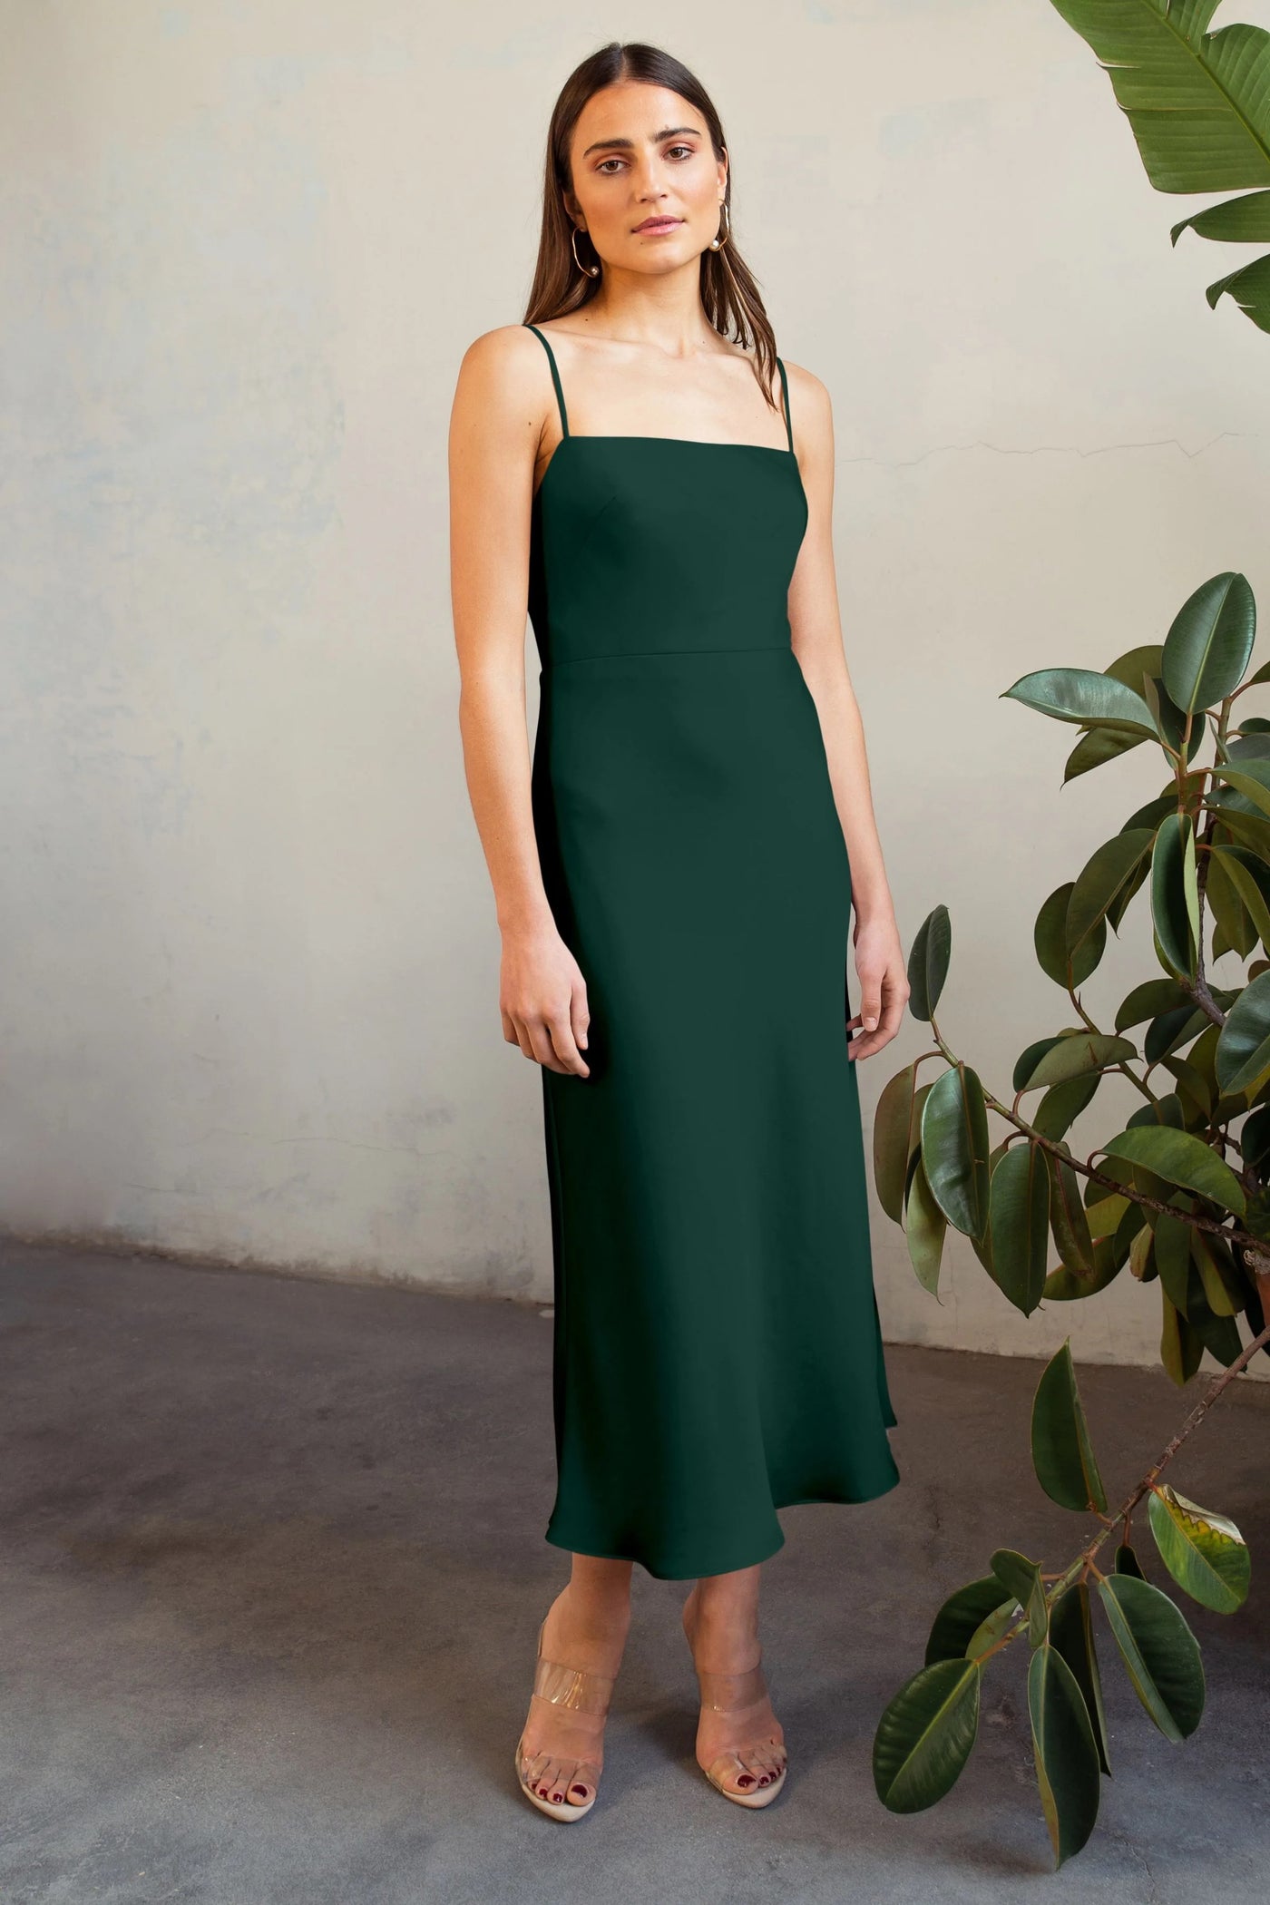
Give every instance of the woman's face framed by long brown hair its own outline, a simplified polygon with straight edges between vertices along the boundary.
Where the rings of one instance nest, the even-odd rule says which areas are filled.
[[[592,93],[571,170],[566,206],[605,267],[674,271],[718,236],[727,160],[714,156],[701,112],[665,86],[619,80]]]

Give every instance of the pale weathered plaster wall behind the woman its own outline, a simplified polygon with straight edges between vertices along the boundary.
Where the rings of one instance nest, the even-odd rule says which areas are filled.
[[[1002,690],[1161,638],[1222,568],[1270,602],[1270,339],[1201,295],[1245,253],[1169,248],[1194,202],[1045,0],[0,15],[4,1223],[548,1293],[446,425],[466,343],[522,316],[556,88],[609,36],[714,90],[737,238],[832,389],[901,928],[950,907],[941,1027],[1007,1093],[1070,1015],[1036,911],[1161,777],[1061,794],[1070,730]],[[1141,901],[1106,968],[1110,1015],[1154,972]],[[923,1044],[863,1067],[868,1114]],[[874,1215],[891,1337],[1154,1358],[1152,1290],[1024,1324],[958,1240],[937,1305]]]

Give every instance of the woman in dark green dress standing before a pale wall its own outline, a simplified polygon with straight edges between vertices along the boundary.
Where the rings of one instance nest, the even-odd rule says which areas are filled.
[[[697,1583],[701,1768],[775,1798],[775,1511],[899,1480],[853,1061],[908,983],[838,623],[828,394],[775,356],[729,179],[685,67],[640,44],[583,61],[526,322],[468,349],[451,425],[503,1034],[543,1069],[546,1539],[571,1553],[516,1770],[566,1821],[594,1804],[634,1562]]]

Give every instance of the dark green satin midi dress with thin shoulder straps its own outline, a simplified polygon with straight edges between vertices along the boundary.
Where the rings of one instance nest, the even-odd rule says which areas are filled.
[[[893,1488],[851,871],[790,646],[788,450],[571,436],[533,499],[533,819],[590,1004],[543,1067],[554,1248],[546,1539],[693,1579],[777,1509]]]

